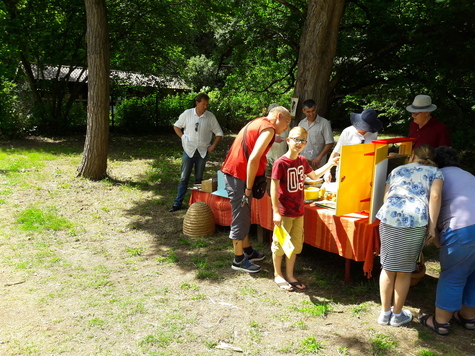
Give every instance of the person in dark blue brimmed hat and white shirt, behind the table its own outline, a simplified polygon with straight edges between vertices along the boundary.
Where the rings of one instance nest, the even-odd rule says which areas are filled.
[[[365,109],[362,113],[350,114],[351,126],[341,132],[340,138],[330,155],[329,160],[340,156],[341,147],[370,143],[378,138],[378,132],[383,128],[383,123],[378,119],[378,113],[373,109]],[[332,181],[331,172],[325,173],[325,182]]]

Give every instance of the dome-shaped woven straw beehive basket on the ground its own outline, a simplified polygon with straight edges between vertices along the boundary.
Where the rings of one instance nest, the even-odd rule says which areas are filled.
[[[208,204],[191,204],[183,219],[183,234],[190,237],[209,236],[214,234],[215,230],[214,215]]]

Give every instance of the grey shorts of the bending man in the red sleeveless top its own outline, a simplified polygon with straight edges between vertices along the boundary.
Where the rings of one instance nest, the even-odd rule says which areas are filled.
[[[249,203],[241,207],[242,197],[246,191],[246,182],[229,174],[224,174],[224,182],[231,202],[233,217],[229,238],[242,241],[251,229],[252,195],[249,197]]]

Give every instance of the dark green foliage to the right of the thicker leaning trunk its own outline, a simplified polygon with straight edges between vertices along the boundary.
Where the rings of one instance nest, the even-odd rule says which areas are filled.
[[[350,112],[370,107],[382,112],[386,131],[405,136],[411,121],[406,106],[415,95],[428,94],[453,146],[473,150],[475,132],[466,130],[475,118],[474,64],[468,60],[475,56],[475,8],[469,3],[348,2],[334,68],[332,124],[346,127]]]

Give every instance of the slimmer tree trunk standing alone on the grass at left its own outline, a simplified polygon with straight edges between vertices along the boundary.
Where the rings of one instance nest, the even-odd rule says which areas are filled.
[[[87,132],[78,176],[107,176],[109,143],[109,38],[105,0],[85,0],[87,18]]]

